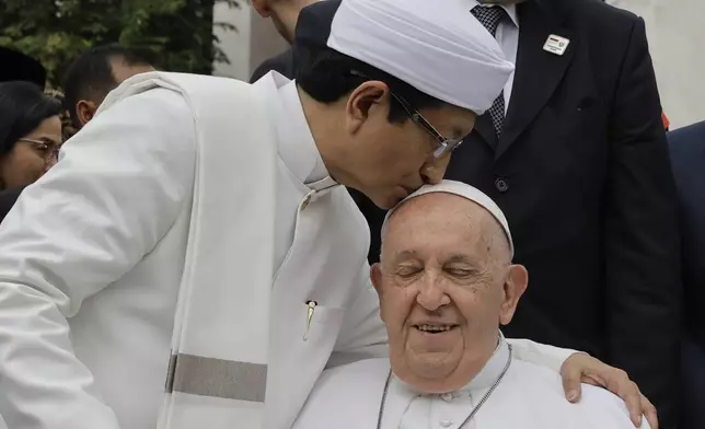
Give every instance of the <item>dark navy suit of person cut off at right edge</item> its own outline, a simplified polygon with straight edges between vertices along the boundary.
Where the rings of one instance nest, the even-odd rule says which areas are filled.
[[[683,346],[683,427],[702,426],[705,398],[705,121],[669,132],[683,230],[686,336]]]

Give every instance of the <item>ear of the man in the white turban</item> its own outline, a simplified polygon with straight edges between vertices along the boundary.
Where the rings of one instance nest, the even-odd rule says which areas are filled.
[[[352,90],[346,105],[348,131],[356,132],[370,116],[383,113],[386,117],[390,101],[391,92],[384,82],[367,81]]]

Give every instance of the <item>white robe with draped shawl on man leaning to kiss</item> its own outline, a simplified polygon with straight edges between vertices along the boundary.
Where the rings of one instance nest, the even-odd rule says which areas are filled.
[[[131,78],[0,227],[0,413],[10,429],[288,429],[326,366],[386,352],[368,245],[294,83]],[[257,341],[266,399],[236,361]],[[553,371],[570,353],[516,345]]]

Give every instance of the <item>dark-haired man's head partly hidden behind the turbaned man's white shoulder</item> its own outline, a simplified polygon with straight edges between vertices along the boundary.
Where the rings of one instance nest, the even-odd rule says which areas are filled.
[[[117,85],[148,71],[154,71],[154,67],[146,58],[116,44],[93,47],[76,58],[63,77],[65,106],[76,129],[93,118]]]

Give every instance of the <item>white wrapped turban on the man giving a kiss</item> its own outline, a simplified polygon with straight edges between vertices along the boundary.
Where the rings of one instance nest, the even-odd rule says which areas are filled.
[[[343,0],[327,46],[482,115],[513,65],[469,0]]]

